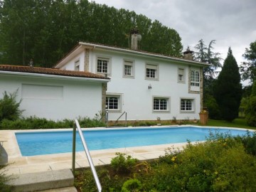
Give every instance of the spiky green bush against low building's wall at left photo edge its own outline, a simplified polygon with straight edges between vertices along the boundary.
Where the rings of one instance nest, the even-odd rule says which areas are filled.
[[[13,93],[4,92],[4,97],[0,100],[0,122],[3,119],[15,120],[20,117],[22,110],[18,108],[21,105],[21,100],[16,102],[18,90]]]

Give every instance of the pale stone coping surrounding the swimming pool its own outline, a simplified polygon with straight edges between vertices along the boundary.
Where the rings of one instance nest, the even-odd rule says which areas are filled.
[[[200,127],[193,125],[183,125],[178,127]],[[160,127],[160,126],[158,126]],[[162,126],[162,127],[177,127],[177,126]],[[208,128],[220,128],[220,127],[206,127]],[[221,127],[225,129],[240,129]],[[86,128],[88,129],[88,128]],[[92,128],[92,129],[110,129],[110,128]],[[117,129],[117,128],[114,128]],[[120,129],[120,128],[119,128]],[[134,128],[137,129],[137,128]],[[6,141],[3,143],[6,154],[8,155],[8,166],[4,168],[6,175],[12,174],[28,174],[41,171],[53,171],[60,169],[72,168],[72,153],[63,154],[48,154],[38,156],[21,156],[21,151],[16,141],[16,132],[58,132],[58,131],[70,131],[73,129],[28,129],[28,130],[2,130],[0,131],[0,141]],[[241,129],[247,130],[247,129]],[[249,129],[252,130],[252,129]],[[255,130],[252,130],[255,131]],[[192,142],[196,143],[196,142]],[[160,144],[152,146],[134,146],[118,149],[102,149],[90,151],[92,161],[95,166],[110,164],[111,159],[116,156],[117,152],[129,154],[133,158],[139,160],[156,159],[159,156],[165,154],[165,149],[174,146],[174,148],[182,149],[187,143],[176,144]],[[89,166],[85,151],[76,152],[75,156],[75,168],[83,168]],[[2,171],[2,170],[1,170]]]

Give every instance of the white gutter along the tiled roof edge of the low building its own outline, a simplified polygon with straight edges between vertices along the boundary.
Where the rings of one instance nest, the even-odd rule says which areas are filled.
[[[20,75],[26,77],[38,77],[38,78],[51,78],[51,79],[60,79],[60,80],[76,80],[76,81],[90,81],[90,82],[110,82],[107,79],[97,79],[97,78],[80,78],[72,76],[63,76],[63,75],[47,75],[41,73],[21,73],[13,71],[0,71],[0,75]]]

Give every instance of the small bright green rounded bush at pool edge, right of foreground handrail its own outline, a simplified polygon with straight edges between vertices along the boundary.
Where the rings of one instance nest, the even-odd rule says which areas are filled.
[[[137,163],[138,159],[122,153],[116,153],[117,156],[111,160],[111,166],[116,172],[129,173],[132,167]]]

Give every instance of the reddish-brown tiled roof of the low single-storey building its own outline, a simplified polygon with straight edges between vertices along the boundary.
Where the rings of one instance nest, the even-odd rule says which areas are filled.
[[[37,73],[37,74],[46,74],[46,75],[58,75],[58,76],[68,76],[68,77],[77,77],[77,78],[96,78],[96,79],[110,79],[105,78],[102,75],[97,75],[95,73],[83,72],[83,71],[73,71],[73,70],[59,70],[53,68],[37,68],[30,66],[21,66],[21,65],[0,65],[0,70],[2,71],[11,71],[19,73]]]

